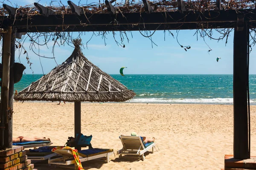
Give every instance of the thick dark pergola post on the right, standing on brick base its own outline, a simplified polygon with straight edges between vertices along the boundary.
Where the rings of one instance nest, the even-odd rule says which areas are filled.
[[[241,29],[240,29],[241,30]],[[249,26],[244,23],[242,31],[234,30],[234,158],[248,159],[248,116],[247,116],[247,54]]]

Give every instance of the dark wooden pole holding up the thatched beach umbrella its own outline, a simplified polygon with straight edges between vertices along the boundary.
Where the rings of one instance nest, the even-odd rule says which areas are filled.
[[[81,133],[81,102],[75,102],[75,137]],[[81,147],[75,146],[75,149],[81,150]]]

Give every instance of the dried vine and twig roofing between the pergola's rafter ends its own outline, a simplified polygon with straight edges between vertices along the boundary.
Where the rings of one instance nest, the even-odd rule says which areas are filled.
[[[178,11],[177,0],[151,0],[148,1],[154,12],[170,12]],[[221,8],[224,10],[238,10],[238,9],[254,9],[254,0],[220,0]],[[216,10],[216,0],[183,0],[183,4],[186,7],[186,11],[206,11],[206,10]],[[129,1],[129,5],[125,3],[113,3],[113,6],[118,9],[118,13],[135,13],[142,12],[143,2],[139,1]],[[79,7],[85,14],[104,14],[108,13],[107,6],[104,3],[93,2],[90,4],[81,4]],[[18,7],[17,7],[18,8]],[[58,6],[47,6],[55,12],[55,14],[72,14],[72,10],[69,6],[64,6],[59,4]],[[38,9],[32,5],[20,6],[20,11],[24,17],[38,15]],[[0,16],[6,16],[7,11],[4,8],[0,8]]]

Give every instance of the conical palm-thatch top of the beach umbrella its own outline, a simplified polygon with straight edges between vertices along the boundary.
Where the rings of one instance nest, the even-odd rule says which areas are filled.
[[[136,94],[93,65],[73,40],[71,56],[48,74],[24,88],[15,100],[67,102],[124,102]]]

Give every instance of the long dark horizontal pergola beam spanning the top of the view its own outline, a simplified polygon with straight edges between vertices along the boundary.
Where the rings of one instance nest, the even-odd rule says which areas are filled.
[[[239,10],[244,13],[244,22],[256,26],[256,9]],[[187,12],[186,17],[176,12],[86,14],[77,17],[73,14],[35,15],[29,18],[18,17],[17,20],[3,19],[3,26],[14,23],[17,32],[54,32],[54,31],[138,31],[144,30],[177,30],[200,28],[232,28],[237,22],[236,10]],[[0,17],[1,19],[1,17]],[[113,20],[118,22],[116,26]],[[143,20],[143,22],[141,22]],[[204,24],[205,23],[205,24]],[[160,27],[159,24],[162,24]],[[85,26],[86,25],[86,26]],[[4,28],[4,27],[3,27]]]

